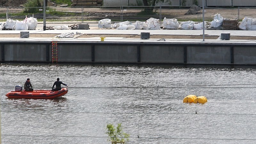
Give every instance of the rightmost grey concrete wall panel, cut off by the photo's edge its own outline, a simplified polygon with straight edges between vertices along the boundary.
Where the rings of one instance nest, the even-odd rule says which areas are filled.
[[[234,47],[234,64],[256,64],[256,47]]]

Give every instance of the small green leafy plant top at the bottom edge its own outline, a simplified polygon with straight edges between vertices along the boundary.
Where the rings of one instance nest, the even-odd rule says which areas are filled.
[[[108,141],[112,144],[128,142],[129,134],[124,133],[121,124],[117,124],[116,128],[113,124],[107,124]]]

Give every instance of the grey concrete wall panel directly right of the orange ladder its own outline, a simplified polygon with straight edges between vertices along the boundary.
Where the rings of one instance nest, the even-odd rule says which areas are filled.
[[[92,46],[58,44],[58,62],[92,62]]]

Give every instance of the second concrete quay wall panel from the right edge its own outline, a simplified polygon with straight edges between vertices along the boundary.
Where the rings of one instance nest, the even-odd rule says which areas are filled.
[[[231,64],[230,47],[187,47],[188,64]]]

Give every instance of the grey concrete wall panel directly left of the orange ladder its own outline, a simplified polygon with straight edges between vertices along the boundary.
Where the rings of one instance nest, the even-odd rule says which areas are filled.
[[[5,61],[46,62],[46,45],[40,44],[6,44]]]

